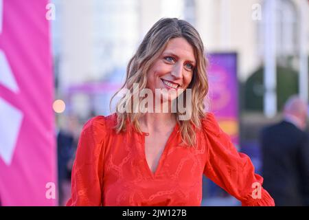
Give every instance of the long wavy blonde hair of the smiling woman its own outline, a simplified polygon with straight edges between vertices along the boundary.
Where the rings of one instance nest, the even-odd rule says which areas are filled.
[[[179,120],[179,115],[181,115],[179,111],[176,111],[174,114],[176,114],[176,120],[179,124],[181,140],[183,142],[182,144],[187,144],[189,146],[194,146],[196,144],[195,129],[201,129],[201,119],[205,117],[204,100],[208,92],[208,79],[206,72],[207,59],[205,57],[205,50],[201,36],[190,23],[180,19],[166,18],[157,21],[144,37],[136,54],[130,59],[126,69],[126,80],[121,89],[119,89],[119,91],[124,88],[128,89],[128,91],[130,91],[130,96],[124,96],[117,102],[117,124],[114,128],[117,133],[120,131],[126,131],[126,122],[132,123],[133,126],[135,126],[135,129],[141,133],[139,118],[144,113],[134,113],[133,111],[130,111],[129,113],[120,113],[119,107],[124,107],[124,105],[130,104],[133,100],[134,83],[138,83],[139,85],[138,92],[146,88],[148,69],[150,69],[152,64],[155,63],[157,58],[159,58],[168,42],[171,39],[179,37],[184,38],[190,43],[190,45],[192,45],[194,56],[196,58],[196,67],[194,67],[190,85],[187,87],[192,89],[192,113],[190,120]],[[111,102],[119,91],[113,95]],[[186,91],[183,91],[183,97],[186,97],[185,93]],[[139,98],[138,102],[140,103],[143,99],[144,98]]]

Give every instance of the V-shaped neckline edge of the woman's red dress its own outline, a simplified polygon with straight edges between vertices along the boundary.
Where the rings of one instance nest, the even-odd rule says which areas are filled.
[[[155,169],[155,172],[152,172],[152,170],[150,169],[148,162],[147,162],[147,158],[146,158],[145,136],[149,135],[149,133],[141,132],[142,136],[143,136],[142,157],[144,157],[143,159],[144,159],[144,164],[146,166],[146,170],[147,170],[148,174],[150,175],[150,177],[152,177],[152,179],[155,179],[155,177],[157,177],[159,171],[161,170],[161,166],[163,166],[163,162],[165,160],[166,154],[168,153],[168,148],[170,148],[170,142],[172,141],[172,138],[176,135],[176,133],[178,133],[178,128],[179,128],[179,124],[176,122],[174,129],[170,133],[170,136],[168,137],[168,140],[165,143],[165,146],[163,148],[163,152],[161,153],[161,156],[159,158],[159,162],[157,164],[157,168]]]

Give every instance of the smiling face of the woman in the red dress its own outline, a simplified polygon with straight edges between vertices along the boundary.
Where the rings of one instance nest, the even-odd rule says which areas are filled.
[[[192,45],[184,38],[171,39],[148,71],[147,88],[153,94],[160,89],[163,100],[172,101],[181,94],[179,89],[187,89],[195,65]]]

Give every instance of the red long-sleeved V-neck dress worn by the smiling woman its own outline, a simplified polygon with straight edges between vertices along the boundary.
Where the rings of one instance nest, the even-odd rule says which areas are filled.
[[[201,206],[205,174],[243,206],[274,206],[260,187],[247,155],[238,153],[212,113],[205,114],[196,131],[196,147],[180,146],[176,124],[152,173],[145,156],[145,135],[128,124],[115,133],[117,115],[97,116],[80,136],[72,170],[71,198],[67,206]],[[253,192],[255,190],[255,192]],[[255,196],[253,196],[253,194]]]

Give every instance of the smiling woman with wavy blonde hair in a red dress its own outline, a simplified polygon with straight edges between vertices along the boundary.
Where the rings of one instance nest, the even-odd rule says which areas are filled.
[[[203,174],[244,206],[274,205],[249,157],[205,113],[205,67],[203,42],[190,23],[155,23],[128,63],[128,92],[116,113],[84,126],[68,206],[201,206]],[[135,111],[145,98],[135,95],[145,89],[155,104]],[[179,105],[172,112],[181,96],[190,100],[186,112]]]

